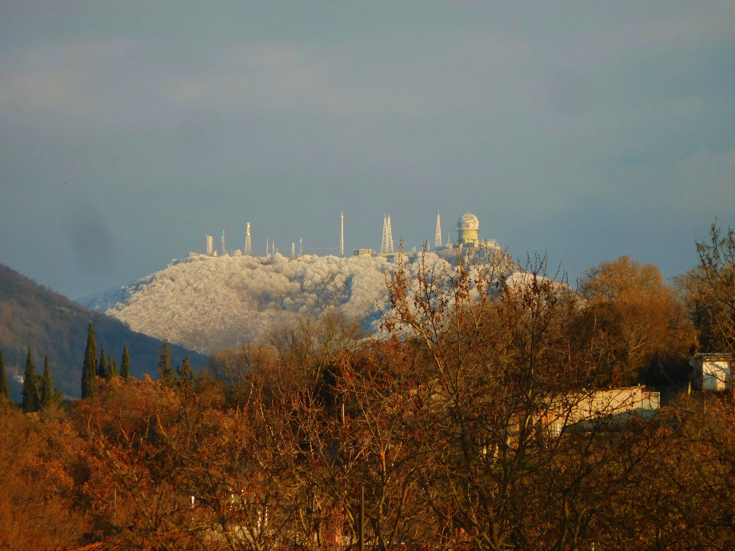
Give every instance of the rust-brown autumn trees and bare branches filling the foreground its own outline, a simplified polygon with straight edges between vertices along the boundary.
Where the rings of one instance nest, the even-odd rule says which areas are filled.
[[[328,314],[208,373],[166,348],[159,381],[97,371],[61,417],[6,403],[0,541],[356,549],[363,491],[373,550],[734,548],[734,393],[683,367],[733,351],[733,232],[699,251],[677,287],[623,257],[578,292],[543,259],[399,265],[385,338]],[[652,420],[594,401],[646,381],[682,391]]]

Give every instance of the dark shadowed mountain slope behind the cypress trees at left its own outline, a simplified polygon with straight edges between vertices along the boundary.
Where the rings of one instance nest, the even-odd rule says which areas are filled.
[[[130,349],[130,372],[142,377],[156,375],[157,351],[162,341],[136,333],[121,321],[84,306],[35,284],[23,275],[0,264],[0,348],[5,351],[8,383],[12,397],[20,398],[26,351],[32,347],[36,372],[43,372],[43,355],[51,359],[51,378],[65,395],[78,397],[82,361],[87,345],[87,326],[94,324],[97,350],[112,353],[120,365],[123,346]],[[172,362],[190,356],[195,367],[207,358],[180,346],[171,347]]]

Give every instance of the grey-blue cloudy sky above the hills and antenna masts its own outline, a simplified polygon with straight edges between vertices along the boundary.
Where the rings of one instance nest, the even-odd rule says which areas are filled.
[[[734,205],[733,1],[0,3],[0,262],[72,298],[340,212],[670,277]]]

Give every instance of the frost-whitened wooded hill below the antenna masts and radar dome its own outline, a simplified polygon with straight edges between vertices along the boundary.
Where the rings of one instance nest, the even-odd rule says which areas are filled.
[[[417,254],[406,255],[409,274]],[[456,251],[427,253],[429,264],[456,264]],[[377,331],[386,309],[387,277],[395,264],[381,256],[289,259],[192,255],[120,287],[77,299],[134,331],[211,352],[262,342],[270,331],[304,314],[334,307]]]

